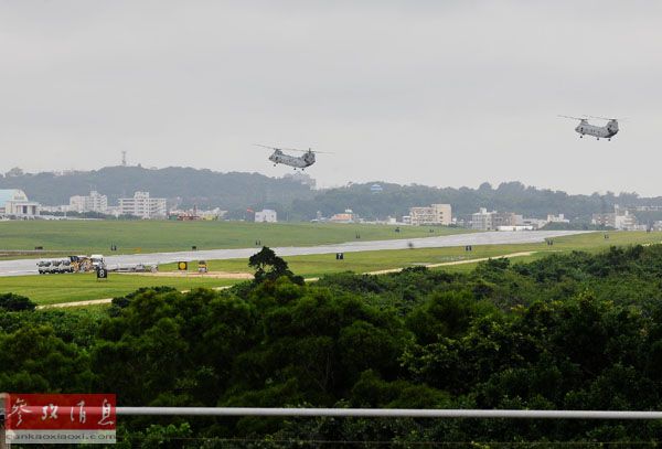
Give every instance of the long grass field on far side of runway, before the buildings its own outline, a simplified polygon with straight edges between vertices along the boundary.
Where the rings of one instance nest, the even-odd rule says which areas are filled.
[[[260,240],[266,246],[309,246],[356,239],[429,237],[469,232],[448,227],[388,225],[167,222],[167,221],[20,221],[0,222],[1,250],[44,250],[71,254],[118,254],[245,248]],[[430,233],[434,229],[434,233]],[[7,257],[6,257],[7,258]]]

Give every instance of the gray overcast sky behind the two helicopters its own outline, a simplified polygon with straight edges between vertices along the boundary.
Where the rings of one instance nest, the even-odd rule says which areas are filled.
[[[520,180],[662,195],[662,2],[0,3],[4,172],[143,167],[321,185]],[[611,141],[557,114],[628,117]]]

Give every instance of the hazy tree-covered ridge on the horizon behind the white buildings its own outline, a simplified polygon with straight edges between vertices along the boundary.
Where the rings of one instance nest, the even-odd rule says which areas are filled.
[[[453,216],[467,217],[479,207],[514,212],[544,218],[547,214],[564,213],[568,218],[590,222],[591,214],[613,212],[613,205],[658,205],[662,197],[639,197],[636,193],[611,192],[600,195],[569,195],[525,186],[521,182],[504,182],[493,188],[489,183],[478,189],[433,188],[381,183],[381,192],[371,190],[374,183],[349,184],[343,188],[314,191],[292,179],[268,178],[258,173],[220,173],[192,168],[149,170],[140,167],[107,167],[96,171],[22,173],[0,175],[0,189],[22,189],[28,196],[46,205],[68,204],[70,196],[97,190],[108,195],[109,204],[136,191],[149,191],[152,196],[167,197],[170,204],[183,207],[221,207],[233,217],[244,217],[247,207],[275,209],[279,218],[312,220],[318,211],[331,216],[352,209],[364,218],[402,217],[409,207],[435,203],[451,204]],[[661,212],[638,212],[648,223],[662,220]]]

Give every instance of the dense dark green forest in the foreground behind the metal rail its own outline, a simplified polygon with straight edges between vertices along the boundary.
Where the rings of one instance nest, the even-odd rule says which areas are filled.
[[[662,408],[660,245],[310,285],[264,255],[250,260],[254,281],[224,291],[142,289],[72,311],[0,297],[0,391],[116,393],[120,406]],[[135,417],[120,420],[118,439],[630,447],[654,446],[662,423]]]

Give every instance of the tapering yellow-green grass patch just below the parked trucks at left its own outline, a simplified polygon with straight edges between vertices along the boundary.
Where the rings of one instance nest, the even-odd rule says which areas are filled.
[[[178,290],[197,287],[224,287],[236,284],[232,279],[149,277],[118,275],[97,280],[95,274],[14,276],[0,278],[0,292],[13,292],[30,298],[38,304],[86,301],[120,297],[140,287],[168,286]]]

